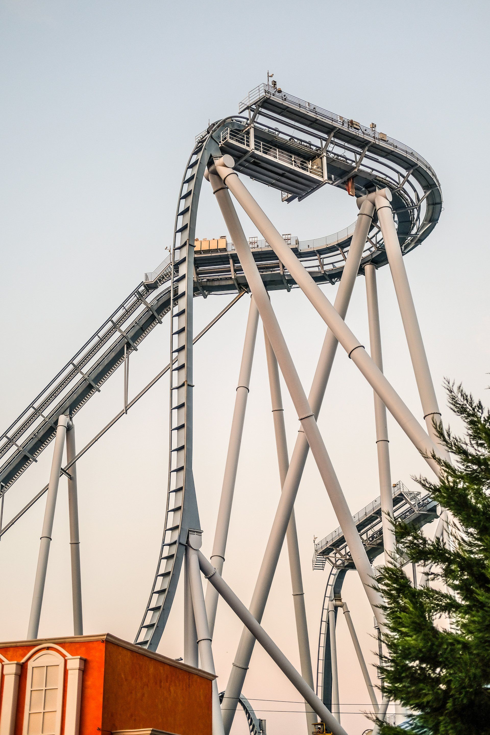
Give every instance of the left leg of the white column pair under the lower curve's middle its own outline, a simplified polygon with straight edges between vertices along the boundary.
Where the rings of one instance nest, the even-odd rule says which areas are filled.
[[[245,423],[245,410],[247,408],[248,392],[250,390],[250,376],[252,371],[253,351],[255,349],[258,323],[259,312],[257,311],[257,307],[255,305],[255,301],[253,301],[252,296],[250,309],[248,311],[245,340],[243,343],[242,363],[240,365],[238,376],[237,396],[235,398],[233,419],[231,420],[230,440],[228,442],[228,453],[226,455],[223,486],[221,488],[220,507],[217,512],[215,542],[213,544],[211,555],[213,564],[216,564],[216,568],[220,573],[223,572],[223,563],[225,561],[226,540],[228,539],[231,505],[233,503],[235,482],[237,480],[238,459],[240,454],[240,446],[242,444],[243,425]],[[215,630],[218,596],[219,595],[217,594],[212,584],[208,584],[206,588],[206,612],[208,616],[209,633],[211,634],[211,636]]]

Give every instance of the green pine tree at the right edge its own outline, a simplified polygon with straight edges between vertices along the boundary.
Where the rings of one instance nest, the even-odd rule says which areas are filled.
[[[446,389],[464,436],[439,426],[453,464],[436,459],[439,481],[417,482],[450,511],[452,543],[395,523],[409,561],[433,567],[430,587],[414,589],[396,564],[380,578],[389,629],[385,692],[417,713],[403,728],[382,725],[381,735],[490,733],[490,411],[461,385]]]

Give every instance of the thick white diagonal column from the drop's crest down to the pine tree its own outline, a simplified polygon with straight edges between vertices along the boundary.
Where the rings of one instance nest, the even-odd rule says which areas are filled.
[[[245,213],[251,218],[251,221],[259,229],[262,237],[267,240],[267,243],[269,243],[275,254],[289,270],[295,282],[323,318],[327,326],[334,332],[336,339],[339,340],[347,355],[352,359],[356,367],[359,368],[370,383],[372,389],[378,393],[394,419],[400,424],[403,431],[405,431],[408,438],[422,454],[425,461],[428,462],[428,465],[436,476],[439,476],[439,465],[432,459],[432,453],[441,455],[438,446],[434,444],[428,434],[422,429],[417,419],[367,354],[364,345],[359,343],[355,334],[350,331],[345,321],[336,312],[334,306],[328,301],[323,291],[314,282],[306,268],[303,267],[292,252],[292,249],[284,242],[284,238],[275,229],[273,223],[264,214],[245,185],[242,184],[237,173],[231,168],[228,168],[228,162],[231,163],[233,161],[233,159],[231,161],[229,159],[231,159],[231,156],[223,157],[216,162],[215,168],[220,174],[220,178],[226,183],[235,198],[237,198]],[[389,195],[389,190],[384,189],[382,193],[385,193],[386,196],[391,196]],[[281,365],[281,361],[279,361],[279,365]],[[312,448],[311,451],[313,451]]]

